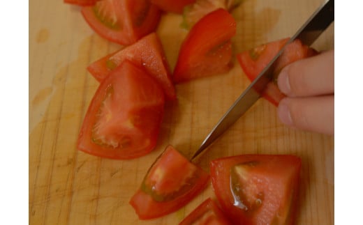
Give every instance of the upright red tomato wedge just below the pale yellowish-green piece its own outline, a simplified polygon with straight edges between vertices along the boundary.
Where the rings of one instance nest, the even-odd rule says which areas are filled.
[[[175,82],[218,75],[230,70],[235,19],[224,9],[202,17],[182,43],[174,70]]]

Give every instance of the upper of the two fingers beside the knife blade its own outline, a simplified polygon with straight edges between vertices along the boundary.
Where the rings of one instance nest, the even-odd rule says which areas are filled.
[[[287,65],[277,84],[290,97],[334,93],[334,50]]]

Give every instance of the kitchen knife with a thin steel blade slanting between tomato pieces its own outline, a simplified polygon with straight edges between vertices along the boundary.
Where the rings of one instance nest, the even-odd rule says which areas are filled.
[[[213,143],[225,130],[227,130],[235,121],[237,121],[260,97],[262,91],[267,84],[272,80],[272,72],[277,59],[283,53],[286,45],[293,42],[295,39],[302,41],[304,45],[311,45],[325,29],[334,21],[334,0],[325,1],[302,27],[295,33],[282,49],[274,56],[274,59],[265,67],[262,72],[253,80],[246,88],[242,95],[232,104],[230,109],[222,116],[218,123],[214,126],[202,145],[195,151],[191,160],[195,160],[211,143]]]

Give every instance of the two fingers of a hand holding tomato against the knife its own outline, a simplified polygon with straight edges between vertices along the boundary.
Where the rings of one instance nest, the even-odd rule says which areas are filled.
[[[334,134],[334,50],[287,65],[277,84],[287,95],[277,109],[281,122]]]

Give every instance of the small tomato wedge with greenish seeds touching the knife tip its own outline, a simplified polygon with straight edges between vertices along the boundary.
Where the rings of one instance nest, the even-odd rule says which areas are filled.
[[[140,219],[167,215],[186,205],[207,186],[209,174],[172,146],[151,166],[130,204]]]

